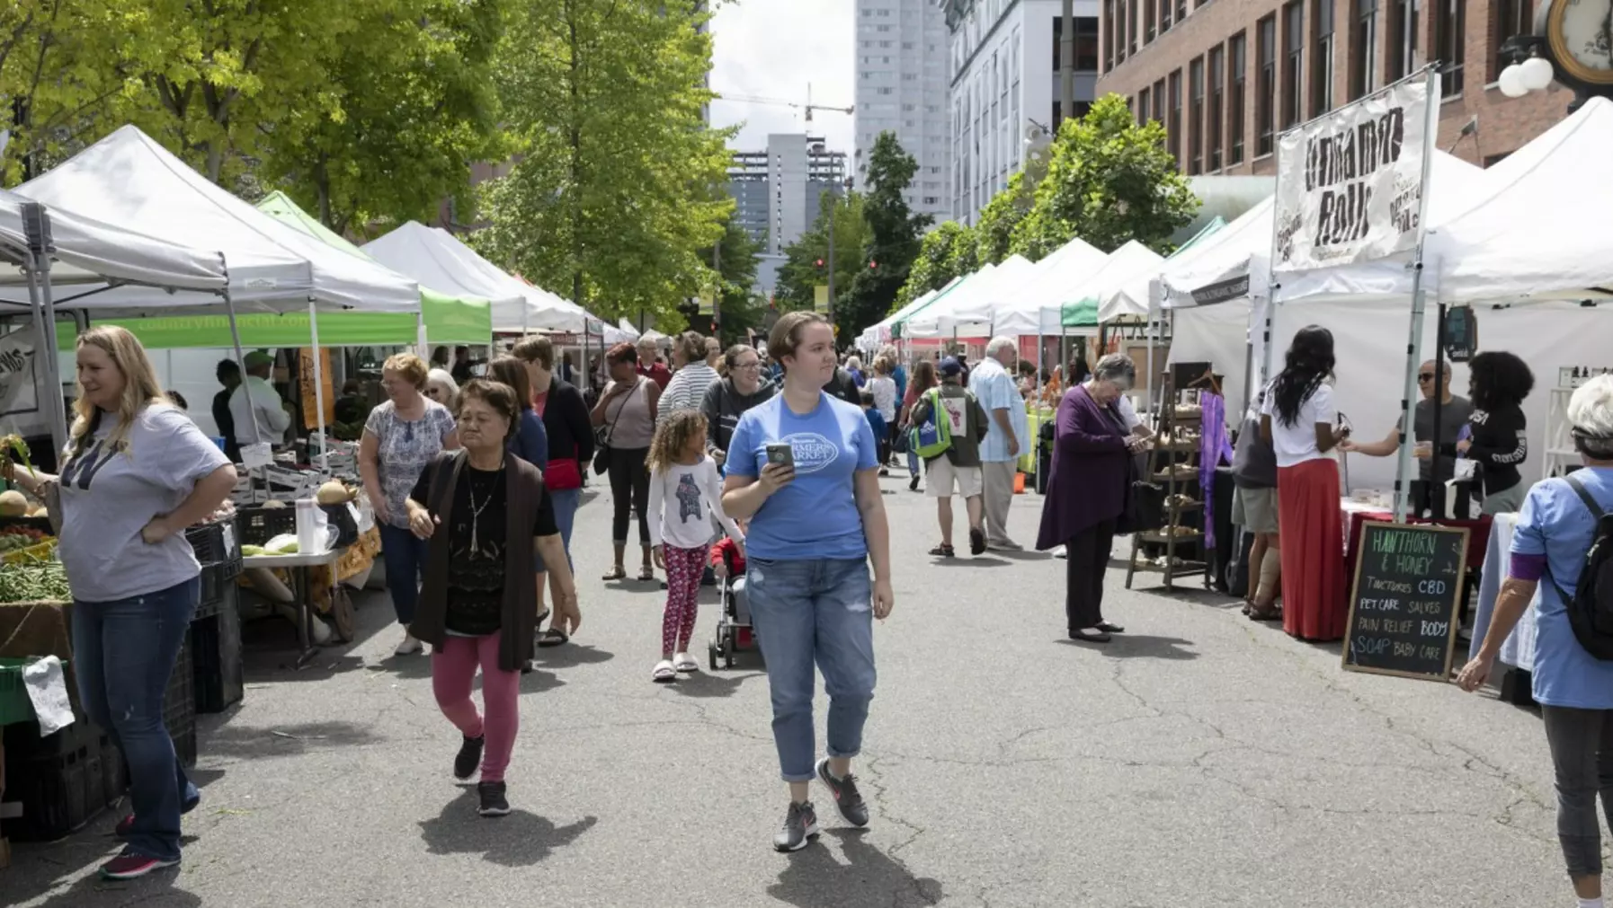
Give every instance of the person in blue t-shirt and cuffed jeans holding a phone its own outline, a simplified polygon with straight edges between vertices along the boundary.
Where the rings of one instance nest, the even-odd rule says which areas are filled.
[[[829,322],[790,312],[773,327],[768,353],[784,367],[784,386],[734,427],[723,507],[750,520],[745,589],[768,660],[779,768],[790,786],[773,847],[794,852],[818,834],[808,800],[813,778],[848,823],[868,824],[852,757],[874,695],[873,618],[889,615],[895,596],[874,433],[860,407],[824,393],[836,372]],[[774,462],[768,449],[784,446],[789,457]],[[829,692],[829,755],[816,761],[813,665]]]

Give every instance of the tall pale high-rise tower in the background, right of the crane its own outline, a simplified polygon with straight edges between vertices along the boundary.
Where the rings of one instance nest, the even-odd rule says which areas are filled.
[[[934,0],[857,0],[855,185],[865,188],[879,134],[895,132],[918,163],[908,208],[937,224],[952,216],[947,43]]]

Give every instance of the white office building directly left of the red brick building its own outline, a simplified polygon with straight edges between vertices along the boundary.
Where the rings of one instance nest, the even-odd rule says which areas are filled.
[[[950,217],[974,224],[1024,164],[1026,129],[1057,132],[1060,0],[932,0],[950,32]],[[1076,0],[1076,116],[1097,97],[1098,3]]]

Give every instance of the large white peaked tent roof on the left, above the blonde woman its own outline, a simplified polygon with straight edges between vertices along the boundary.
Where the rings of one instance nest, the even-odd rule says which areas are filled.
[[[419,287],[281,224],[208,182],[134,126],[79,151],[18,187],[21,195],[113,227],[197,248],[216,248],[229,267],[231,298],[247,309],[418,312]],[[81,304],[148,309],[215,299],[121,287]]]

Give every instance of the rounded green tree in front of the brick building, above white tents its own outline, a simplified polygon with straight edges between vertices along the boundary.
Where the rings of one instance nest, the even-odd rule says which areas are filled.
[[[1107,95],[1060,127],[1011,248],[1034,261],[1081,237],[1100,250],[1137,240],[1163,254],[1195,211],[1198,200],[1165,148],[1165,127],[1139,126],[1126,98]]]

